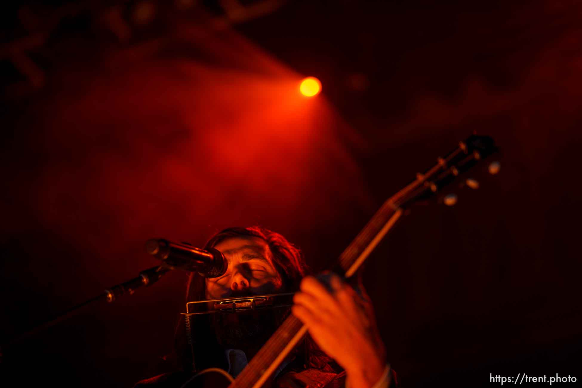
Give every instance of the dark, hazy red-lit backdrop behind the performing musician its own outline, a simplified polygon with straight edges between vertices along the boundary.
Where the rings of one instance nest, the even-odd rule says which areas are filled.
[[[9,343],[156,265],[150,237],[258,224],[322,269],[474,130],[501,148],[498,175],[484,163],[454,207],[413,208],[367,264],[389,361],[404,387],[582,378],[582,5],[229,4],[4,5],[5,379],[165,372],[179,271]],[[299,95],[305,76],[321,95]]]

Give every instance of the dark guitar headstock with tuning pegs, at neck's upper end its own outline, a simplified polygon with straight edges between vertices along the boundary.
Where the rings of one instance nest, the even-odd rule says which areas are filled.
[[[460,179],[464,173],[497,151],[493,138],[473,134],[460,141],[453,151],[437,158],[437,163],[424,173],[417,173],[416,180],[393,195],[391,201],[397,207],[404,208],[415,202],[428,200],[442,193],[443,188]],[[492,175],[498,173],[499,169],[499,162],[496,161],[488,166],[488,171]],[[474,179],[467,179],[464,184],[470,188],[479,187],[478,181]],[[445,205],[454,205],[456,195],[447,195],[443,202]]]

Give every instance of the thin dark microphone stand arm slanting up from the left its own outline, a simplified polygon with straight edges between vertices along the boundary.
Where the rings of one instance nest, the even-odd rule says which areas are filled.
[[[108,302],[113,302],[116,300],[116,298],[119,298],[123,294],[126,294],[126,293],[133,294],[134,291],[139,287],[151,286],[152,284],[157,282],[162,276],[164,276],[165,273],[168,272],[169,270],[171,270],[171,269],[166,268],[165,266],[155,266],[155,267],[143,270],[140,272],[139,276],[134,277],[134,279],[129,280],[125,283],[117,284],[116,286],[110,287],[109,289],[105,290],[103,293],[99,294],[98,296],[93,297],[87,301],[84,301],[83,303],[77,304],[76,306],[73,306],[73,307],[63,311],[60,314],[57,314],[56,316],[54,316],[54,318],[50,319],[49,321],[41,323],[41,325],[38,325],[30,330],[27,330],[27,332],[24,332],[23,334],[20,334],[16,338],[10,340],[5,345],[5,347],[12,346],[13,344],[20,342],[24,339],[27,339],[28,337],[33,336],[34,334],[36,334],[42,330],[48,329],[51,326],[56,325],[56,323],[62,322],[65,319],[70,318],[71,316],[73,316],[77,312],[77,310],[79,310],[81,307],[84,307],[88,304],[91,304],[93,302],[97,302],[98,300],[102,300],[102,299],[106,299]],[[1,351],[0,351],[0,355],[1,355]]]

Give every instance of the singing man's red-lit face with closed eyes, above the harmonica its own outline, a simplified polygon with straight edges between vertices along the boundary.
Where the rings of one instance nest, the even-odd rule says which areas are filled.
[[[267,243],[258,237],[232,237],[215,245],[228,261],[220,277],[206,279],[206,298],[249,296],[275,293],[282,280],[272,264]]]

